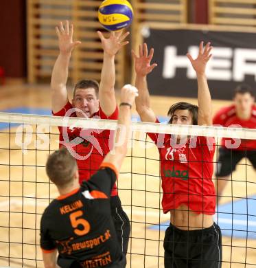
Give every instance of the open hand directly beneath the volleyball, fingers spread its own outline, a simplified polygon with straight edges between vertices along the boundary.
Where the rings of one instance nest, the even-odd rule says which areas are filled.
[[[129,41],[124,41],[124,39],[130,34],[130,32],[126,32],[124,34],[122,31],[111,32],[109,38],[105,38],[100,31],[97,31],[97,34],[102,41],[104,52],[106,52],[106,54],[109,56],[115,56],[121,47],[124,47],[124,45],[127,45],[129,43]]]

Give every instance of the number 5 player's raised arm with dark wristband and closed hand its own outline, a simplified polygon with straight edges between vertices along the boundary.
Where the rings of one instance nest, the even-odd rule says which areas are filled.
[[[135,97],[138,96],[138,91],[131,85],[126,85],[121,89],[121,103],[118,115],[118,129],[115,133],[115,146],[113,150],[106,155],[103,163],[110,163],[120,170],[121,164],[126,156],[128,135],[130,133],[130,109],[135,102]]]

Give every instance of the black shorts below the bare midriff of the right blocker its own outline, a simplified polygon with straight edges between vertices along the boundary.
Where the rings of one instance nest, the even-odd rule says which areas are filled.
[[[222,235],[216,223],[209,228],[183,231],[174,225],[165,231],[165,268],[221,268]]]

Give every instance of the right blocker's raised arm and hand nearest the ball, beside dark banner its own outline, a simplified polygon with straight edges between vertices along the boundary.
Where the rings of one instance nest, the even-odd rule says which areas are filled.
[[[154,49],[150,49],[148,55],[148,47],[146,43],[139,45],[139,56],[132,50],[132,56],[135,60],[135,87],[139,91],[139,96],[136,98],[136,110],[143,122],[156,122],[156,115],[150,107],[150,93],[148,92],[147,75],[156,67],[156,63],[150,65],[154,55]]]

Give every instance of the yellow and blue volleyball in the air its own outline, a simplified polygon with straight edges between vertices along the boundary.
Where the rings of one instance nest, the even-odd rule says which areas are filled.
[[[127,0],[105,0],[98,10],[98,19],[108,31],[118,31],[132,22],[132,5]]]

